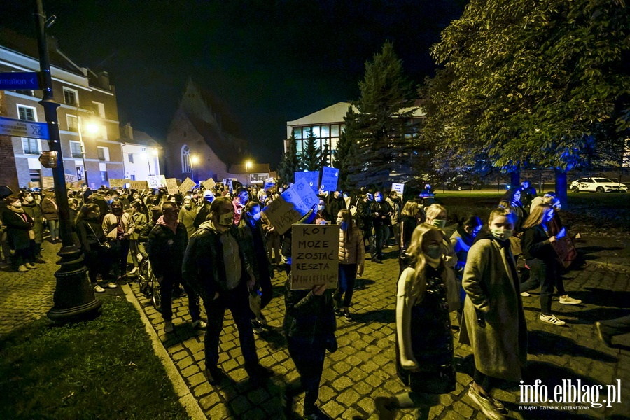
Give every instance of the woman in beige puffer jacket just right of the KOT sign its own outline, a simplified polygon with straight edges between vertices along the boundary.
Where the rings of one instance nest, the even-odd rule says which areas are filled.
[[[343,314],[347,321],[351,321],[350,304],[354,289],[354,279],[358,265],[363,265],[365,258],[365,246],[363,246],[363,235],[352,220],[349,210],[339,210],[337,213],[337,225],[339,229],[339,283],[333,299],[335,300],[335,313]],[[342,295],[344,301],[342,302]]]

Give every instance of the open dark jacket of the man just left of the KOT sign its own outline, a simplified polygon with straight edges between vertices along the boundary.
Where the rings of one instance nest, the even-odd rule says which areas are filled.
[[[223,244],[221,244],[222,235],[231,235],[238,244],[241,258],[240,281],[249,281],[254,278],[251,255],[243,252],[245,247],[238,228],[231,226],[226,232],[220,233],[216,231],[212,221],[204,222],[190,237],[182,265],[183,280],[202,297],[204,302],[214,300],[215,293],[228,291],[228,276],[225,262],[223,262]]]

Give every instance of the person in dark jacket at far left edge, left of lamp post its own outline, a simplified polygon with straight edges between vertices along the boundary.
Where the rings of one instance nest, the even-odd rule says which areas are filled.
[[[15,251],[11,258],[13,268],[20,273],[36,269],[32,252],[35,248],[33,219],[22,209],[22,202],[17,196],[6,197],[4,202],[6,209],[2,212],[2,224],[6,226],[8,244]]]

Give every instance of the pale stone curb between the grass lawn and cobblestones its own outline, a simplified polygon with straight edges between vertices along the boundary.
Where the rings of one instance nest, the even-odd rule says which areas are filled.
[[[153,325],[151,325],[151,322],[148,320],[146,314],[142,310],[142,307],[140,306],[136,295],[134,295],[128,284],[121,285],[121,288],[123,288],[123,292],[125,292],[125,297],[127,298],[127,300],[131,302],[138,310],[140,318],[144,323],[144,328],[146,332],[148,332],[149,337],[151,337],[153,351],[155,351],[155,355],[160,358],[160,361],[162,362],[162,365],[164,365],[164,368],[167,372],[167,376],[169,377],[173,384],[173,387],[175,388],[175,393],[177,394],[177,396],[179,396],[179,403],[186,409],[186,412],[188,413],[188,416],[190,416],[190,419],[207,420],[208,417],[206,416],[206,414],[204,414],[204,411],[200,407],[199,402],[197,402],[197,399],[193,396],[192,393],[190,393],[190,389],[181,377],[181,374],[179,374],[179,370],[177,370],[177,367],[175,367],[171,356],[169,356],[169,353],[162,345],[162,340],[160,340],[160,337],[158,337],[158,334],[153,329]]]

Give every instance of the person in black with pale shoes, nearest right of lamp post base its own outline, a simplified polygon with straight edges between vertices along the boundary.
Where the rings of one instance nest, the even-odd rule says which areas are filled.
[[[103,260],[106,259],[101,244],[105,241],[105,235],[99,222],[100,209],[98,204],[87,204],[79,210],[76,216],[76,232],[78,235],[80,250],[83,251],[83,260],[87,267],[87,277],[90,279],[94,292],[103,293],[105,289],[97,281],[100,273],[106,277],[103,268]],[[116,287],[116,283],[113,283]]]

